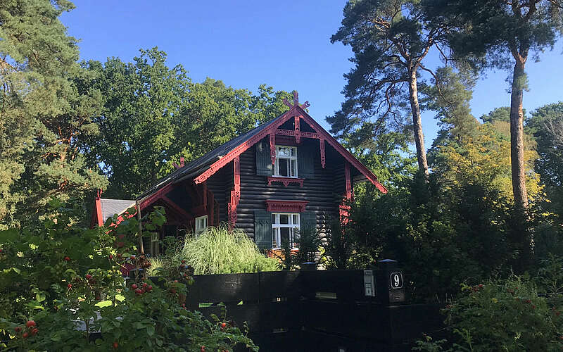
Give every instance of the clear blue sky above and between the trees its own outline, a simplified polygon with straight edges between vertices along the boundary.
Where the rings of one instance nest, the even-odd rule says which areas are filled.
[[[139,49],[158,46],[168,65],[181,63],[194,82],[205,77],[234,88],[256,92],[265,83],[277,90],[299,92],[310,114],[327,129],[324,118],[338,110],[351,68],[349,47],[331,44],[342,20],[343,0],[74,0],[77,8],[62,16],[69,33],[81,39],[80,56],[106,61],[117,56],[131,61]],[[524,108],[533,111],[563,101],[563,46],[529,61],[530,91]],[[436,67],[435,60],[428,65]],[[489,72],[474,90],[476,117],[508,106],[507,73]],[[436,137],[436,121],[424,113],[428,148]]]

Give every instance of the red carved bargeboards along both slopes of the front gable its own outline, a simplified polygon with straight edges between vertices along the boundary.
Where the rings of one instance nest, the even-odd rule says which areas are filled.
[[[251,137],[251,139],[248,139],[246,142],[237,146],[235,149],[227,153],[227,155],[223,156],[218,161],[215,161],[215,163],[210,165],[208,170],[205,170],[205,172],[203,172],[201,175],[196,177],[194,179],[194,182],[198,184],[207,180],[211,175],[215,174],[217,170],[219,170],[220,168],[224,167],[224,165],[227,165],[227,163],[232,161],[235,156],[238,156],[244,151],[246,151],[248,148],[250,148],[258,141],[260,141],[260,139],[266,137],[268,134],[277,133],[277,128],[282,124],[284,124],[284,122],[289,120],[289,118],[291,118],[291,116],[294,116],[295,114],[301,115],[303,120],[307,122],[309,125],[311,125],[311,127],[315,131],[317,131],[317,133],[301,132],[301,137],[308,137],[308,138],[319,138],[319,136],[324,137],[324,139],[330,144],[330,146],[332,146],[334,149],[336,149],[336,151],[341,153],[341,155],[346,159],[346,161],[348,161],[348,163],[352,164],[355,168],[360,170],[360,172],[362,172],[362,174],[364,174],[367,177],[367,179],[370,182],[372,182],[372,184],[374,184],[375,187],[377,187],[377,189],[379,189],[383,193],[387,193],[387,189],[377,181],[377,177],[373,174],[373,172],[371,172],[368,168],[366,168],[365,165],[360,163],[360,161],[358,161],[358,159],[356,159],[348,150],[346,150],[346,148],[341,146],[341,144],[338,141],[336,141],[336,139],[334,139],[334,137],[332,137],[327,131],[325,131],[321,127],[321,125],[319,125],[315,120],[313,120],[310,117],[310,115],[307,112],[305,112],[305,110],[303,110],[303,107],[301,106],[292,106],[289,109],[289,111],[284,113],[284,115],[281,115],[281,118],[279,118],[279,120],[277,120],[276,123],[272,123],[272,125],[268,126],[264,130],[260,131],[259,133]],[[290,132],[293,132],[293,134],[295,133],[294,131],[290,131]]]

